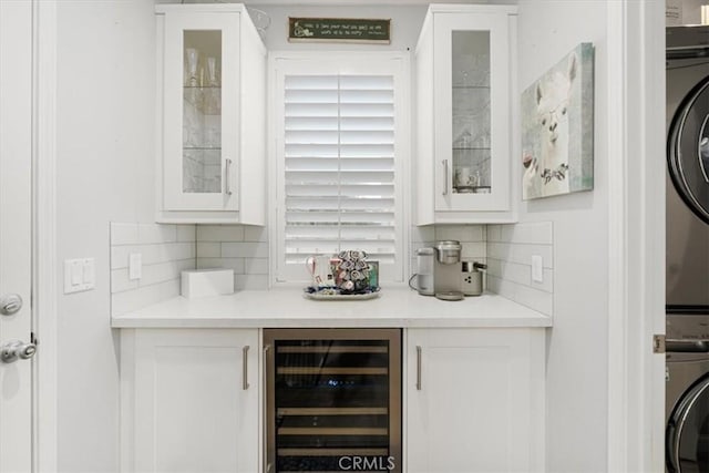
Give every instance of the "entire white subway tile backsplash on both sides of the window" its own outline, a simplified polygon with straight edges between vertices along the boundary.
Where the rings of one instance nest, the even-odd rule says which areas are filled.
[[[551,222],[435,225],[411,228],[411,274],[417,250],[436,240],[461,241],[462,258],[487,264],[485,289],[553,315],[554,235]],[[140,253],[142,277],[129,279],[129,256]],[[532,256],[543,282],[532,281]],[[111,307],[125,313],[179,295],[184,269],[229,268],[235,290],[269,288],[268,228],[244,225],[111,224]]]

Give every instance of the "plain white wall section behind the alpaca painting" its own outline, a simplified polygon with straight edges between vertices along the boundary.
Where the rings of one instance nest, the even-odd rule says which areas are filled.
[[[606,470],[608,395],[606,2],[523,1],[518,25],[521,92],[579,42],[590,41],[596,47],[595,188],[522,203],[520,220],[549,220],[554,225],[547,471],[600,472]]]

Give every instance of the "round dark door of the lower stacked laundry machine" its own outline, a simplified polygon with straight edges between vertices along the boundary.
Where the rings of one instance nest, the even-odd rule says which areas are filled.
[[[666,439],[668,472],[709,473],[709,374],[679,400]]]

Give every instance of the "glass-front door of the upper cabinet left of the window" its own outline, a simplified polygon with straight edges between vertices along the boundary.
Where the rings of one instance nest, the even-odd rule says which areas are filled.
[[[239,14],[165,17],[164,207],[238,208]]]

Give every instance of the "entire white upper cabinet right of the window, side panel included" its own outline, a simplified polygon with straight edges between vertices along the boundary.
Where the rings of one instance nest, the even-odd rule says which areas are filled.
[[[516,9],[431,6],[415,51],[418,225],[513,222]]]

